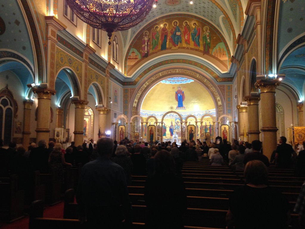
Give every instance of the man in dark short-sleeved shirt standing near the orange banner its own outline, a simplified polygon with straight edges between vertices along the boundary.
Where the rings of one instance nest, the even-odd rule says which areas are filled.
[[[280,137],[278,147],[275,152],[275,166],[280,168],[289,168],[291,164],[291,156],[296,157],[291,145],[286,143],[287,139],[284,136]]]

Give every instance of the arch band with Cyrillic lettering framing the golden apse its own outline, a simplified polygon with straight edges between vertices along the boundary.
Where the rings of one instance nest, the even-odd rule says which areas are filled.
[[[184,69],[184,66],[172,66],[171,68],[162,68],[158,69],[158,71],[151,72],[149,75],[147,75],[137,86],[135,89],[135,92],[131,96],[131,103],[129,106],[129,114],[131,115],[137,115],[140,114],[141,104],[144,100],[145,95],[149,92],[149,90],[156,85],[156,83],[160,82],[160,80],[168,78],[168,77],[174,77],[177,75],[177,73],[170,73],[171,70],[186,70],[192,73],[197,74],[198,77],[194,77],[192,74],[186,74],[186,73],[179,73],[180,76],[185,76],[188,78],[193,79],[194,81],[200,83],[203,87],[206,88],[206,90],[210,93],[211,97],[213,98],[214,106],[216,114],[219,116],[223,114],[223,111],[225,109],[225,100],[220,92],[220,89],[218,86],[213,82],[208,80],[208,76],[204,74],[203,72],[200,72],[198,69]],[[169,73],[166,73],[164,75],[161,75],[160,73],[164,71],[169,71]],[[213,92],[214,91],[214,92]],[[215,92],[217,95],[215,95]],[[140,93],[140,95],[138,95]],[[218,97],[216,97],[218,96]]]

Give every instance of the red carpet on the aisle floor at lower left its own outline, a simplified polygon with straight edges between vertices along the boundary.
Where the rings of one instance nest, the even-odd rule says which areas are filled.
[[[43,211],[43,217],[45,218],[63,218],[63,202],[54,206],[45,205]],[[29,228],[29,216],[25,216],[21,220],[17,220],[11,224],[0,221],[0,229],[28,229]]]

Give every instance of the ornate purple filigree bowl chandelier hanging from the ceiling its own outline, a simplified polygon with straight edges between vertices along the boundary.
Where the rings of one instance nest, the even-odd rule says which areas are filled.
[[[130,29],[142,22],[156,0],[66,0],[71,10],[91,27],[107,32]]]

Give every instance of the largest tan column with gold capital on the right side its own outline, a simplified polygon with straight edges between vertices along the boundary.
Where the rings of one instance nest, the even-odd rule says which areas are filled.
[[[258,80],[255,86],[260,89],[262,116],[263,152],[269,159],[277,146],[278,128],[276,127],[275,88],[281,82],[278,79]]]

